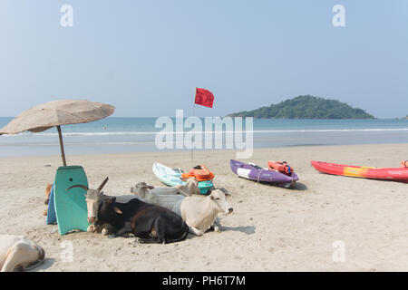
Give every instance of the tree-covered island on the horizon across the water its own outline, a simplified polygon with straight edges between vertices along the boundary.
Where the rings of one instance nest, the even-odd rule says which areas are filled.
[[[345,102],[311,95],[297,96],[269,107],[239,111],[228,116],[257,119],[375,119],[363,109],[353,108]]]

